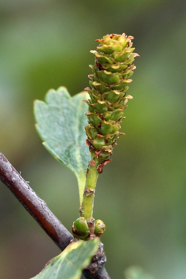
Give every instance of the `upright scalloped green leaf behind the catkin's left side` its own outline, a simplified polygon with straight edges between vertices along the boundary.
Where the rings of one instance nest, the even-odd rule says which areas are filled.
[[[45,102],[36,100],[34,103],[36,129],[43,145],[76,175],[80,203],[90,160],[84,128],[87,125],[87,105],[82,101],[88,99],[88,96],[88,93],[83,91],[71,97],[65,87],[60,87],[57,91],[51,89]]]

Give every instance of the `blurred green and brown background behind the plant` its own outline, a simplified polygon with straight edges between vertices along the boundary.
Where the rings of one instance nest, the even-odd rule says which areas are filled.
[[[95,197],[112,278],[130,265],[156,279],[186,278],[185,9],[184,0],[0,0],[0,150],[69,230],[77,181],[42,146],[33,100],[50,88],[74,95],[88,86],[95,39],[135,38],[126,135]],[[33,277],[60,250],[0,186],[0,278]]]

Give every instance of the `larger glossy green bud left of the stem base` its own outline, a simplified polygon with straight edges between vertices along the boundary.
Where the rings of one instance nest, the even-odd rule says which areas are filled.
[[[86,239],[89,234],[89,227],[84,217],[80,217],[73,222],[72,233],[75,238]]]

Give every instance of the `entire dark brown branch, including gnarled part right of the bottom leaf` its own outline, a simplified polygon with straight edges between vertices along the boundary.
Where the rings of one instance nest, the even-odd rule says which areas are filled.
[[[55,244],[63,251],[73,238],[72,234],[51,212],[45,201],[40,199],[32,188],[30,188],[29,184],[26,183],[1,152],[0,179],[7,185],[14,196],[44,229],[49,237],[51,237]],[[100,244],[99,253],[86,270],[83,271],[84,276],[87,279],[109,279],[108,273],[105,268],[103,268],[105,262],[106,257],[102,244]]]

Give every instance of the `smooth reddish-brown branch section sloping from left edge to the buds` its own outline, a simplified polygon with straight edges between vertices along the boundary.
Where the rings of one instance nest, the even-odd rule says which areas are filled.
[[[30,188],[7,158],[0,152],[0,178],[55,244],[64,250],[73,236]]]

